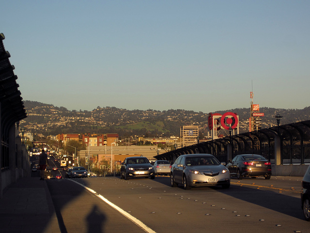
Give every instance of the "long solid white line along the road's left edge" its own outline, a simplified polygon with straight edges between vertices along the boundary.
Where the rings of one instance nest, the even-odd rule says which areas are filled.
[[[79,185],[81,185],[82,187],[84,187],[85,189],[87,189],[88,191],[90,191],[91,193],[93,193],[96,197],[100,198],[101,200],[103,200],[104,202],[106,202],[109,206],[111,206],[112,208],[114,208],[115,210],[117,210],[118,212],[120,212],[122,215],[124,215],[125,217],[127,217],[129,220],[131,220],[132,222],[134,222],[136,225],[138,225],[140,228],[142,228],[145,232],[147,233],[156,233],[155,231],[153,231],[151,228],[149,228],[148,226],[146,226],[143,222],[141,222],[139,219],[135,218],[134,216],[128,214],[126,211],[124,211],[123,209],[121,209],[120,207],[118,207],[117,205],[113,204],[111,201],[109,201],[108,199],[104,198],[103,196],[101,196],[100,194],[98,194],[96,191],[94,191],[93,189],[78,183],[76,181],[73,180],[69,180],[72,182],[75,182]]]

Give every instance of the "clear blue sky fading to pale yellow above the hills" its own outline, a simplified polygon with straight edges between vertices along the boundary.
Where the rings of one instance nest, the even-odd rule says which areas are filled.
[[[0,8],[24,100],[209,113],[249,107],[253,90],[261,107],[310,106],[309,0],[1,0]]]

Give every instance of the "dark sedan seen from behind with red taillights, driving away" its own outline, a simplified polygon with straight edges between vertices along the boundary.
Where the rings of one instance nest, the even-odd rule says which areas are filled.
[[[260,177],[266,180],[271,177],[270,162],[258,154],[242,154],[237,155],[232,161],[228,161],[226,166],[232,176],[236,176],[238,180],[243,177]]]

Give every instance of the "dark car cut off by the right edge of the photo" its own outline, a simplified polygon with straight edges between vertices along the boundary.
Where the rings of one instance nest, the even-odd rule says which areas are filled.
[[[301,208],[305,219],[310,221],[310,166],[302,179],[301,186]]]

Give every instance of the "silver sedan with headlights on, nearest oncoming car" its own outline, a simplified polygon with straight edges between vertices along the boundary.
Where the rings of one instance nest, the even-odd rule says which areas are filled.
[[[224,165],[211,154],[180,155],[171,166],[171,187],[182,184],[184,189],[214,185],[229,188],[231,176]]]

